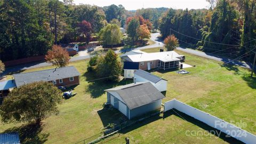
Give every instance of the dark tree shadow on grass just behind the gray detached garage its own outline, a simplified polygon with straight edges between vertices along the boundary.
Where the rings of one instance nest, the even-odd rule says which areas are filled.
[[[119,82],[113,82],[107,78],[99,79],[94,77],[92,72],[88,71],[84,74],[84,76],[86,77],[86,81],[89,83],[86,92],[90,92],[92,98],[100,97],[103,93],[105,93],[104,90],[106,89],[111,89],[119,85],[126,85],[133,82],[132,79],[122,79]]]

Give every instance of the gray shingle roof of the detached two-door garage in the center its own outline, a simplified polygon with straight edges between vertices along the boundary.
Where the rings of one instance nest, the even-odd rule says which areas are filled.
[[[123,99],[129,109],[137,108],[154,102],[165,96],[150,82],[138,82],[114,87],[105,91],[114,91]]]

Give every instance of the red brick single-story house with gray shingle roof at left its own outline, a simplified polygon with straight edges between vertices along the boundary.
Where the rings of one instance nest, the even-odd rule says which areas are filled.
[[[74,66],[52,68],[29,73],[14,74],[17,87],[33,82],[51,82],[56,86],[72,86],[79,84],[80,73]]]

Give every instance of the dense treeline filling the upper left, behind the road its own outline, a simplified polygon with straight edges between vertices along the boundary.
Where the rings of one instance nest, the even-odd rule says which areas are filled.
[[[72,0],[1,0],[0,12],[2,61],[44,55],[53,44],[89,43],[108,23],[125,27],[126,19],[137,15],[122,5],[74,5]],[[140,11],[152,22],[159,12]]]

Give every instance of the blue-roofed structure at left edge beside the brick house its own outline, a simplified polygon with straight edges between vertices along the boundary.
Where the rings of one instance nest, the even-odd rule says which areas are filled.
[[[16,87],[14,79],[0,82],[0,104],[14,87]]]

